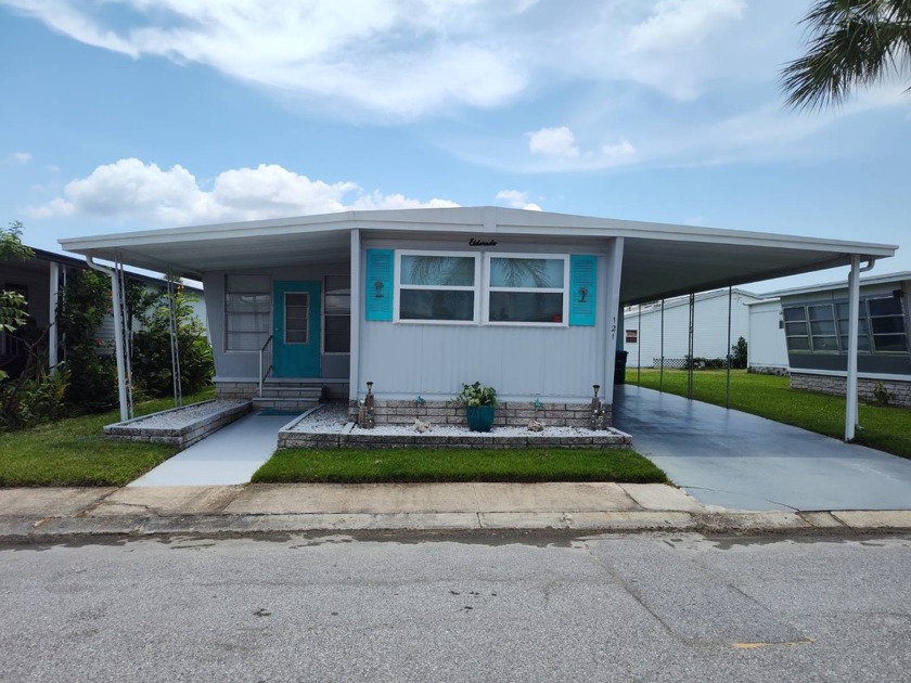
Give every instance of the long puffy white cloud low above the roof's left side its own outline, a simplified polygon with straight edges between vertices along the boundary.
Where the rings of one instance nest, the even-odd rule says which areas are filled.
[[[63,196],[33,207],[37,218],[101,217],[180,225],[284,216],[331,214],[349,209],[458,206],[401,194],[367,193],[357,183],[311,180],[274,164],[222,171],[210,189],[180,165],[169,169],[137,158],[99,166],[68,182]]]

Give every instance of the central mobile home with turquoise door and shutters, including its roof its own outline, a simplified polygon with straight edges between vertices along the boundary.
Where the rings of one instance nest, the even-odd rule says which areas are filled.
[[[611,387],[634,305],[896,247],[496,207],[346,211],[62,240],[202,280],[222,396],[313,384],[385,415],[461,384],[552,421]],[[611,391],[603,398],[610,411]],[[516,415],[527,423],[527,416]]]

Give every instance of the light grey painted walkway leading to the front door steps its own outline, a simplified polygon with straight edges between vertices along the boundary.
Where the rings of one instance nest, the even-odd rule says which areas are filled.
[[[224,486],[246,484],[275,451],[279,429],[292,414],[255,412],[194,443],[130,484],[147,486]]]

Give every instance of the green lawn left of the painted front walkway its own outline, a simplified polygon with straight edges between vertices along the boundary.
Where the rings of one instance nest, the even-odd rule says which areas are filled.
[[[184,403],[214,396],[209,388]],[[172,399],[146,401],[136,414],[172,407]],[[177,452],[163,443],[106,441],[102,427],[119,420],[112,411],[0,434],[0,486],[124,486]]]

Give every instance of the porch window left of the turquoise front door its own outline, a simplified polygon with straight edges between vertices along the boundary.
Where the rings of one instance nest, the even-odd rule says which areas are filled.
[[[224,276],[224,350],[258,351],[269,338],[269,275]]]

